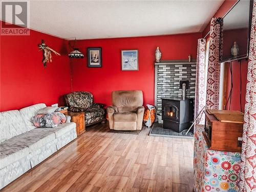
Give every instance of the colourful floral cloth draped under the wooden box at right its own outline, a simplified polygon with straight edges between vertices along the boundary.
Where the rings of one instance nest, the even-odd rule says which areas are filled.
[[[194,191],[239,191],[241,153],[209,150],[197,127],[194,145]]]

